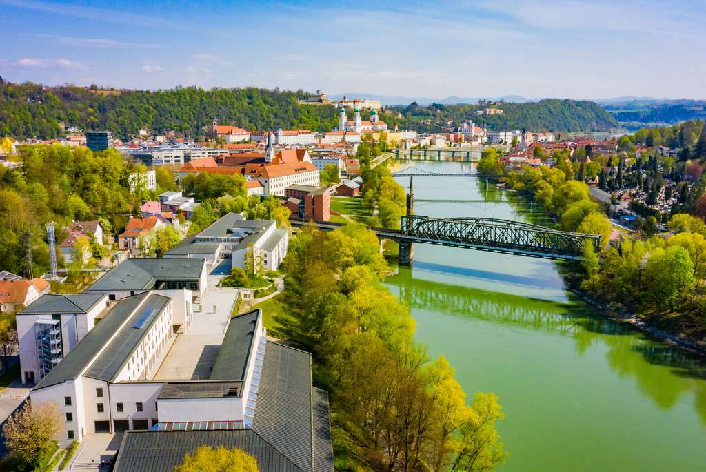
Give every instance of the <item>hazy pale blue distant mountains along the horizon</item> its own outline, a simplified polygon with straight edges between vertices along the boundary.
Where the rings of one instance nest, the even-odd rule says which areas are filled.
[[[359,98],[359,99],[364,99],[364,98],[369,98],[369,99],[374,99],[374,100],[380,100],[381,104],[387,105],[387,106],[394,106],[394,105],[409,105],[412,102],[417,102],[417,104],[421,106],[428,105],[430,103],[440,103],[443,105],[462,105],[462,104],[477,104],[479,99],[487,99],[487,100],[492,100],[492,101],[497,101],[497,100],[503,100],[505,102],[514,102],[514,103],[531,103],[531,102],[539,102],[539,100],[542,100],[544,98],[549,98],[549,97],[542,97],[542,98],[527,98],[527,97],[521,97],[520,95],[503,95],[503,97],[445,97],[445,98],[429,98],[429,97],[401,97],[401,96],[396,96],[396,95],[374,95],[371,93],[359,93],[359,92],[352,92],[352,93],[340,93],[337,95],[329,95],[328,98],[332,100],[340,100],[343,97],[348,97],[348,98]],[[621,102],[669,102],[674,99],[670,98],[654,98],[654,97],[635,97],[635,96],[628,96],[628,97],[614,97],[614,98],[603,98],[603,99],[590,99],[590,98],[582,98],[582,99],[577,99],[577,100],[588,100],[590,102],[596,102],[597,104],[614,104],[614,103],[621,103]]]

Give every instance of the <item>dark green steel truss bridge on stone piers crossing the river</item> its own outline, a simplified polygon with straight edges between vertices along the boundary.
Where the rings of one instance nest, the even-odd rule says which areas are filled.
[[[307,223],[290,218],[293,226]],[[324,231],[343,224],[315,222]],[[378,238],[400,244],[400,263],[408,264],[414,257],[413,243],[440,244],[456,248],[488,250],[524,255],[532,258],[581,260],[583,243],[587,241],[596,252],[600,236],[545,228],[535,224],[489,218],[430,218],[415,214],[400,217],[401,230],[373,228]]]

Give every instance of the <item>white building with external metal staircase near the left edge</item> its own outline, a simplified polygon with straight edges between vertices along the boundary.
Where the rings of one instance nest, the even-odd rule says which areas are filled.
[[[106,294],[47,294],[20,310],[22,383],[42,380],[95,325],[107,301]]]

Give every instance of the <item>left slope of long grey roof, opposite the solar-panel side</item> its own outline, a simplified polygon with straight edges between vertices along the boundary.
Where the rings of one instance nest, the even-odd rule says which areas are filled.
[[[105,346],[141,301],[149,294],[139,294],[119,301],[35,387],[42,389],[75,380],[88,363]]]

